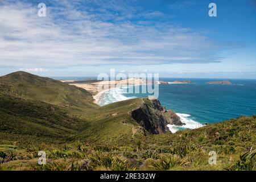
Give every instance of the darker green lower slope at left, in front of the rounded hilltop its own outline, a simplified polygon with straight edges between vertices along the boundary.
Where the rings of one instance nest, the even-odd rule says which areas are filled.
[[[0,133],[20,134],[60,140],[88,127],[85,119],[72,117],[65,108],[44,102],[23,100],[0,94]],[[25,137],[26,136],[26,137]]]

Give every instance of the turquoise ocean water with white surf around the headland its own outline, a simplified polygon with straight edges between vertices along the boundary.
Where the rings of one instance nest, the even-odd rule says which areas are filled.
[[[161,104],[167,109],[174,110],[186,124],[181,127],[168,125],[172,133],[186,128],[196,129],[205,123],[256,114],[256,80],[228,79],[236,85],[210,85],[206,82],[214,80],[205,78],[161,78],[160,80],[192,81],[192,84],[159,85],[158,99]],[[102,94],[98,104],[106,105],[147,96],[148,94],[127,93],[127,88],[112,89]]]

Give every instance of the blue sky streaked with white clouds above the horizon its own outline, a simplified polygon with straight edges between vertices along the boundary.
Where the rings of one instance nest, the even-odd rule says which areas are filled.
[[[256,78],[255,32],[254,0],[1,1],[0,75]]]

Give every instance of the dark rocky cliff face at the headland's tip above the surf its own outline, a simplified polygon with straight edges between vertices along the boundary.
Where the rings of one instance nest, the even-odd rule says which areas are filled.
[[[168,124],[184,125],[180,118],[172,110],[167,111],[159,100],[148,100],[146,98],[141,106],[131,111],[131,117],[150,134],[168,132]]]

